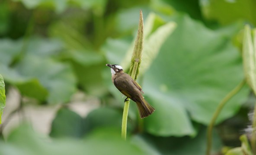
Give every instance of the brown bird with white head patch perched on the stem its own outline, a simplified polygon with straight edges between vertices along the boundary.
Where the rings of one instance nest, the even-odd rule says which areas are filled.
[[[127,97],[125,101],[130,98],[136,103],[141,118],[146,118],[156,110],[142,96],[144,92],[141,86],[130,75],[124,73],[122,66],[111,64],[106,64],[106,66],[111,69],[112,82],[115,87]]]

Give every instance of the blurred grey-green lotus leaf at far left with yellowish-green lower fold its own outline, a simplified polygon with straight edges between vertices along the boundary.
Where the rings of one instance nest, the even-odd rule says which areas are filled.
[[[24,57],[11,68],[13,58],[22,49],[22,41],[0,40],[0,73],[24,96],[39,101],[67,102],[76,90],[72,68],[50,58],[58,55],[62,47],[58,40],[33,37]]]

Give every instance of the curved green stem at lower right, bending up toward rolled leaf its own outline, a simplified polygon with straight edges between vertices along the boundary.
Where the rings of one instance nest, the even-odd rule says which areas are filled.
[[[245,83],[246,83],[246,81],[245,81],[245,79],[243,79],[243,81],[241,81],[240,84],[237,85],[237,87],[235,87],[230,93],[227,94],[227,96],[224,97],[224,99],[220,102],[216,111],[214,112],[214,115],[211,118],[211,122],[210,122],[210,124],[208,125],[208,128],[207,128],[207,151],[206,151],[206,155],[210,155],[210,153],[211,153],[212,129],[214,127],[216,119],[218,118],[218,115],[220,114],[222,108],[227,103],[227,101],[229,101],[236,93],[238,93],[239,90],[241,90],[241,88],[243,87],[243,85]]]

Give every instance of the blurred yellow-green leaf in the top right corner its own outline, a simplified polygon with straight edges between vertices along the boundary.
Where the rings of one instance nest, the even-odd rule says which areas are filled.
[[[256,25],[255,0],[200,0],[206,19],[230,24],[245,19]]]

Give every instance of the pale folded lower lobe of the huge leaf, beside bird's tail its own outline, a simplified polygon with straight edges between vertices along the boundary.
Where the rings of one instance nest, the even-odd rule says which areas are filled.
[[[172,100],[150,87],[144,87],[144,91],[147,92],[145,99],[156,109],[154,115],[145,118],[145,130],[147,132],[160,136],[195,135],[186,109],[180,102]],[[153,92],[154,94],[151,94]]]

